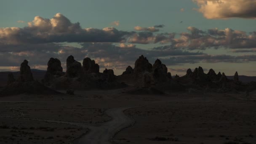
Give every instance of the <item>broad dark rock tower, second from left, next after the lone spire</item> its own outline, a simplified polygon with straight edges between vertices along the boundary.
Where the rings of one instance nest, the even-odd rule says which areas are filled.
[[[54,80],[56,77],[64,75],[63,68],[61,67],[61,61],[59,59],[51,58],[47,63],[47,71],[45,73],[43,83],[48,83]]]

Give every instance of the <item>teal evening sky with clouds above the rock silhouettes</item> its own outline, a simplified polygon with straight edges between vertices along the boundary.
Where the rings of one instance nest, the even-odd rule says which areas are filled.
[[[1,0],[0,71],[73,55],[120,75],[144,55],[172,75],[256,76],[256,0]]]

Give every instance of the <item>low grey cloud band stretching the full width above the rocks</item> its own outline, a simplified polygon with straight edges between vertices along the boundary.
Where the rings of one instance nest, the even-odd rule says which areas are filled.
[[[81,43],[81,48],[65,46],[61,44],[24,44],[5,45],[0,51],[0,67],[19,67],[24,59],[35,69],[46,69],[48,60],[58,58],[65,69],[66,59],[73,55],[77,61],[83,61],[85,57],[94,59],[100,68],[123,70],[128,65],[134,66],[134,62],[140,55],[144,55],[151,63],[160,59],[167,66],[196,64],[196,63],[247,63],[256,61],[256,55],[208,55],[202,52],[191,52],[180,49],[140,49],[135,45],[120,43]],[[0,45],[2,48],[3,45]],[[166,46],[168,47],[168,46]],[[178,72],[179,70],[177,70]]]

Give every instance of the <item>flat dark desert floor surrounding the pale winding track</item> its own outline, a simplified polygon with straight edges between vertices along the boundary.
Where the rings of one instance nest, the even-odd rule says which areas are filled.
[[[248,99],[242,92],[136,95],[124,91],[0,97],[0,144],[78,144],[92,127],[115,120],[106,111],[117,108],[123,108],[133,122],[111,130],[109,143],[256,143],[255,92]]]

